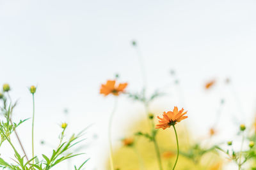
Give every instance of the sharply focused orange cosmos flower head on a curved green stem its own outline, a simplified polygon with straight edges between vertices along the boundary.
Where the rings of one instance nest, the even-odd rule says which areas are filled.
[[[175,106],[173,111],[168,111],[167,113],[164,111],[163,118],[159,118],[159,124],[156,125],[156,129],[163,128],[166,129],[167,127],[170,127],[171,125],[177,124],[177,122],[180,122],[181,120],[188,118],[184,115],[186,115],[186,112],[183,112],[184,109],[178,111],[178,108]]]

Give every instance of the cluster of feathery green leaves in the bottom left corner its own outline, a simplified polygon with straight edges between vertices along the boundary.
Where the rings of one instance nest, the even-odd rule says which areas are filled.
[[[4,95],[3,95],[4,94]],[[60,144],[58,147],[54,150],[52,150],[52,154],[47,157],[46,155],[42,154],[42,160],[40,160],[37,156],[33,157],[32,159],[28,159],[28,156],[26,153],[22,153],[24,155],[20,155],[19,152],[17,152],[17,149],[13,145],[13,141],[11,139],[11,134],[15,132],[17,138],[18,134],[15,131],[19,125],[21,125],[23,122],[25,122],[28,119],[20,120],[18,123],[12,122],[12,112],[15,106],[17,105],[17,102],[15,104],[12,104],[12,100],[10,99],[10,96],[8,92],[3,93],[0,98],[0,102],[2,102],[1,106],[1,116],[3,117],[0,121],[0,146],[4,141],[7,141],[10,146],[12,146],[12,150],[14,152],[14,158],[12,159],[13,162],[9,163],[6,160],[4,160],[2,157],[0,157],[0,167],[3,169],[12,169],[12,170],[49,170],[52,167],[56,166],[57,164],[60,164],[64,160],[71,159],[72,157],[76,157],[78,155],[82,155],[84,153],[72,153],[70,152],[70,148],[77,145],[84,139],[81,139],[81,136],[83,136],[83,133],[85,129],[78,134],[73,134],[67,141],[63,141],[63,138],[65,136],[65,128],[63,128],[63,131],[60,134]],[[9,101],[9,102],[8,102]],[[20,142],[20,141],[19,141]],[[20,143],[20,146],[22,146],[22,143]],[[3,155],[1,155],[3,156]],[[35,160],[35,163],[34,161]],[[86,162],[89,159],[86,159],[81,166],[74,166],[75,170],[81,170]]]

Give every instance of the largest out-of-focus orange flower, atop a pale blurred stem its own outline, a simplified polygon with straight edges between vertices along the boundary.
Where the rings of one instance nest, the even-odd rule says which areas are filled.
[[[108,96],[109,94],[118,96],[121,92],[124,92],[125,87],[128,85],[128,83],[120,83],[116,86],[115,83],[116,80],[108,80],[106,84],[102,84],[100,94],[104,94],[104,96]]]

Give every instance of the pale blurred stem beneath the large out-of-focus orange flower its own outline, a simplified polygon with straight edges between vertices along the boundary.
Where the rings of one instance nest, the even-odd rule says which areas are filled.
[[[113,122],[113,117],[116,111],[116,106],[117,106],[117,97],[115,99],[115,104],[113,111],[110,114],[109,117],[109,126],[108,126],[108,139],[109,139],[109,156],[110,156],[110,167],[111,170],[114,170],[114,161],[113,161],[113,148],[112,148],[112,140],[111,140],[111,128],[112,128],[112,122]]]

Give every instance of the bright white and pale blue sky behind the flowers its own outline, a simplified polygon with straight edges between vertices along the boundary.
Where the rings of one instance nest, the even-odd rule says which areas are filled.
[[[113,97],[100,96],[99,87],[119,73],[121,81],[129,82],[127,90],[141,90],[138,55],[131,46],[136,39],[145,61],[148,92],[171,83],[171,69],[180,81],[180,87],[166,89],[170,95],[156,101],[152,109],[185,107],[189,129],[200,136],[211,127],[224,98],[218,128],[226,140],[237,128],[232,114],[248,125],[254,117],[255,8],[254,0],[0,0],[0,85],[10,83],[13,99],[19,99],[17,120],[31,117],[28,87],[38,85],[36,153],[51,152],[40,140],[56,145],[61,122],[68,122],[69,134],[93,124],[85,135],[90,148],[81,150],[86,155],[79,162],[91,157],[87,169],[102,170]],[[231,88],[225,85],[227,77]],[[205,81],[213,78],[216,87],[205,92]],[[63,114],[65,108],[68,117]],[[113,125],[118,127],[113,136],[116,143],[124,137],[125,128],[138,120],[140,111],[141,104],[120,98]],[[30,123],[19,129],[28,153]],[[3,157],[12,156],[3,148],[0,152]]]

